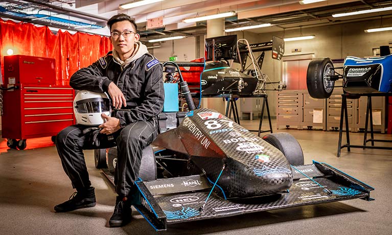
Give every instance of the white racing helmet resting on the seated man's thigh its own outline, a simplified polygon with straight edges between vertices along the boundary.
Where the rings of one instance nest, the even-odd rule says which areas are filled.
[[[110,116],[110,99],[107,93],[81,90],[74,99],[76,122],[86,126],[99,126],[105,121],[101,113]]]

